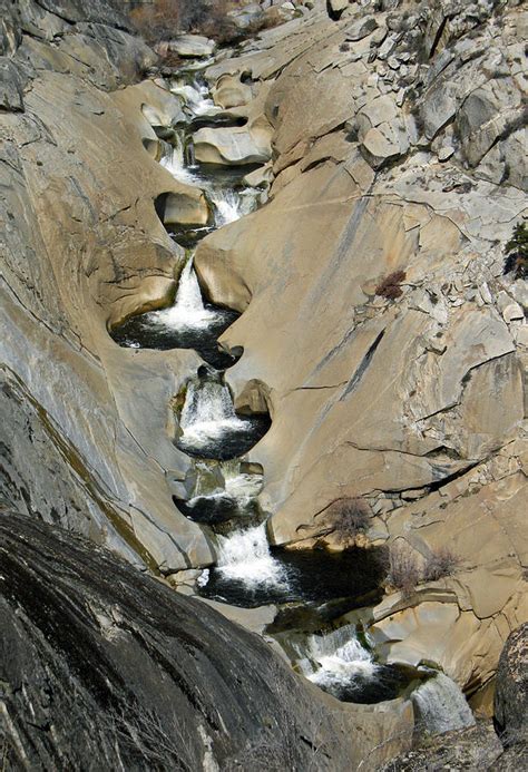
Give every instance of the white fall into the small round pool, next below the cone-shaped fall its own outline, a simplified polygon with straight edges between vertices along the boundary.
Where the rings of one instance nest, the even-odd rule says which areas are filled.
[[[219,381],[190,381],[179,426],[180,442],[195,450],[222,439],[227,432],[246,430],[233,405],[229,389]]]

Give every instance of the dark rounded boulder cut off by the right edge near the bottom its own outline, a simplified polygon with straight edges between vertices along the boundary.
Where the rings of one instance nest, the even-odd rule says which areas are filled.
[[[495,720],[505,746],[528,742],[528,623],[506,642],[497,668]]]

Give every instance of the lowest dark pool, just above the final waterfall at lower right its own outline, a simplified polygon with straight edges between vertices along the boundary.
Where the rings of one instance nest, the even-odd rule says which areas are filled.
[[[332,683],[331,686],[317,684],[341,702],[355,702],[373,705],[384,700],[395,700],[417,681],[417,671],[405,665],[378,665],[373,676],[354,675],[348,682]]]

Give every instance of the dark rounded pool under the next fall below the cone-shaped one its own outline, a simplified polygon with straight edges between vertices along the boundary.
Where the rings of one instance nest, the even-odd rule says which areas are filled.
[[[270,416],[254,413],[253,416],[238,416],[239,427],[226,430],[221,437],[201,439],[195,443],[193,439],[176,438],[175,444],[188,456],[199,459],[215,459],[228,461],[239,458],[261,440],[271,427]]]

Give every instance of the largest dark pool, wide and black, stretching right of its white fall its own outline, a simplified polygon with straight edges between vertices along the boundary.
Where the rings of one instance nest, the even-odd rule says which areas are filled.
[[[284,585],[248,585],[243,580],[226,579],[221,570],[212,568],[201,595],[245,608],[360,597],[380,587],[385,575],[384,554],[382,548],[353,548],[339,554],[275,549],[273,555],[285,573]]]

